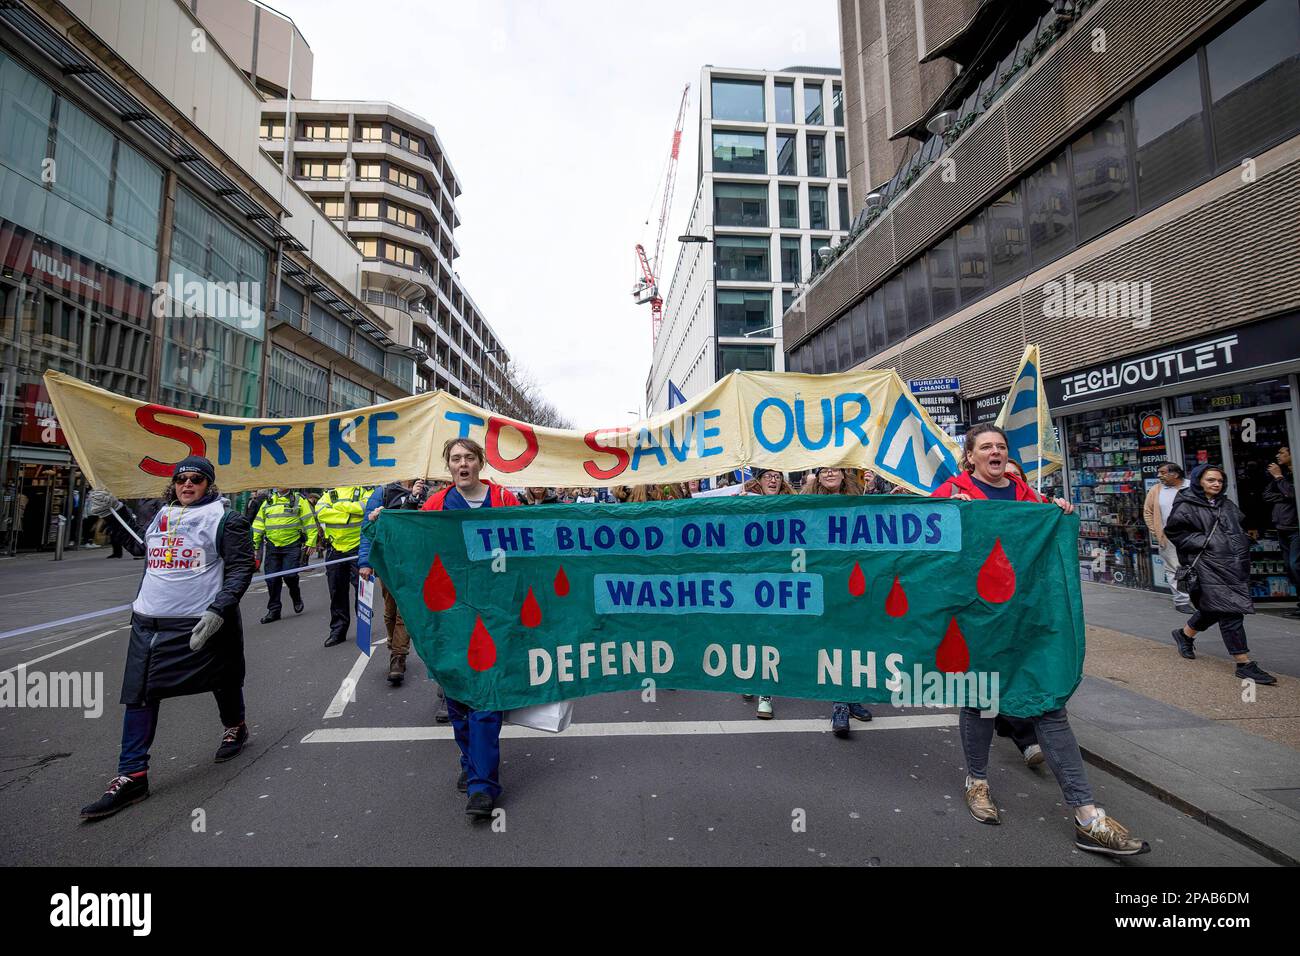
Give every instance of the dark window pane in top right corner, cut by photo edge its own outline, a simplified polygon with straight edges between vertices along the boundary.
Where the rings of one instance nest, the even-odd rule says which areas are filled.
[[[1266,0],[1205,47],[1214,161],[1223,168],[1300,126],[1300,4]]]

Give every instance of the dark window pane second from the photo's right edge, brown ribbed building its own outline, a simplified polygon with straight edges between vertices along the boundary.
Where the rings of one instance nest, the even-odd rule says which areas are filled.
[[[1138,198],[1149,209],[1200,182],[1209,172],[1201,75],[1190,56],[1134,99]]]

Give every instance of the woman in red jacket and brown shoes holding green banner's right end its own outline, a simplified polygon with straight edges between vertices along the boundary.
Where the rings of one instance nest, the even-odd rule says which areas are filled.
[[[993,424],[979,424],[966,433],[962,453],[963,471],[937,489],[931,497],[959,501],[1028,501],[1044,502],[1022,479],[1006,468],[1009,460],[1006,432]],[[1061,498],[1053,501],[1066,514],[1074,505]],[[1121,823],[1093,804],[1092,787],[1083,767],[1083,754],[1070,728],[1065,708],[1028,718],[1034,722],[1039,745],[1048,766],[1061,784],[1061,793],[1074,808],[1074,845],[1106,856],[1135,856],[1150,852],[1144,840],[1130,836]],[[978,708],[962,708],[962,752],[966,757],[966,806],[980,823],[1001,822],[997,804],[988,790],[988,752],[993,743],[993,721],[980,717]]]

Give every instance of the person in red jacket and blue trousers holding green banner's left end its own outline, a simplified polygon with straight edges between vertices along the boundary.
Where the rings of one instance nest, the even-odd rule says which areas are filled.
[[[429,498],[422,511],[460,511],[480,507],[511,507],[519,498],[494,481],[481,481],[484,449],[473,438],[451,438],[442,446],[442,460],[451,472],[452,484]],[[500,710],[471,710],[447,697],[451,727],[460,748],[460,777],[456,790],[468,793],[465,816],[491,819],[500,797]]]

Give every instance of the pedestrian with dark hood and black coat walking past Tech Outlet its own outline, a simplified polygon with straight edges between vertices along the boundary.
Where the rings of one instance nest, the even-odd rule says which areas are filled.
[[[1174,498],[1165,522],[1165,537],[1178,550],[1179,574],[1187,570],[1195,575],[1195,584],[1188,581],[1187,591],[1196,614],[1183,627],[1174,628],[1174,644],[1191,661],[1196,657],[1196,633],[1218,624],[1223,644],[1236,661],[1236,676],[1275,684],[1278,679],[1251,659],[1245,644],[1243,615],[1254,614],[1251,537],[1242,524],[1242,510],[1223,494],[1227,475],[1212,464],[1193,471],[1191,481]]]

